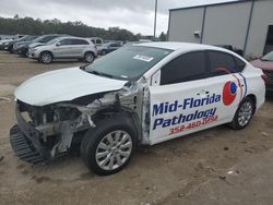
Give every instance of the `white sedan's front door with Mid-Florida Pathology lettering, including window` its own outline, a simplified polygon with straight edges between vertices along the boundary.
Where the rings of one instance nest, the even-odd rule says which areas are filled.
[[[161,69],[161,84],[150,86],[150,142],[159,143],[229,120],[223,85],[213,76],[206,51],[183,53]],[[158,76],[158,73],[155,73]],[[222,79],[221,79],[222,77]]]

